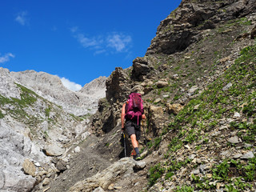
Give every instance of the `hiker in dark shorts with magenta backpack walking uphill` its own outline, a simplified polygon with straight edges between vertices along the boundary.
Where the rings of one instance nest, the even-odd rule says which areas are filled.
[[[141,136],[140,122],[145,119],[144,108],[142,104],[142,95],[131,93],[129,99],[122,106],[121,122],[122,131],[126,130],[133,146],[135,160],[140,160],[141,156],[138,150],[138,140]],[[126,123],[125,123],[126,121]]]

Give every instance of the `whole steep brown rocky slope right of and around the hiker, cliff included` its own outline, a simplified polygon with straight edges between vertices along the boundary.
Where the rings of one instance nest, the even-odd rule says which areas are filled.
[[[140,92],[146,167],[122,170],[121,159],[70,191],[255,190],[255,5],[182,1],[161,22],[146,56],[106,80],[106,99],[92,122],[109,141],[101,148],[122,158],[122,103]]]

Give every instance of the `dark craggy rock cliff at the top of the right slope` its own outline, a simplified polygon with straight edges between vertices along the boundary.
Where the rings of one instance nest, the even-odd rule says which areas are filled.
[[[146,51],[149,54],[174,54],[202,38],[202,31],[214,29],[220,22],[253,13],[255,0],[225,2],[182,1],[158,26],[157,35]]]

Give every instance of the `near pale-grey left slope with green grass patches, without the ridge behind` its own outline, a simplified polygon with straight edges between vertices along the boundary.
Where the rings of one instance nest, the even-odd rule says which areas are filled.
[[[56,167],[68,161],[66,150],[87,120],[18,84],[9,70],[0,74],[0,189],[30,191],[62,170]]]

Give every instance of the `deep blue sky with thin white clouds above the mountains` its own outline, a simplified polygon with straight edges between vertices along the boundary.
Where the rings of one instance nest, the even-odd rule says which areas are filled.
[[[2,0],[0,66],[56,74],[79,89],[143,57],[181,0]]]

